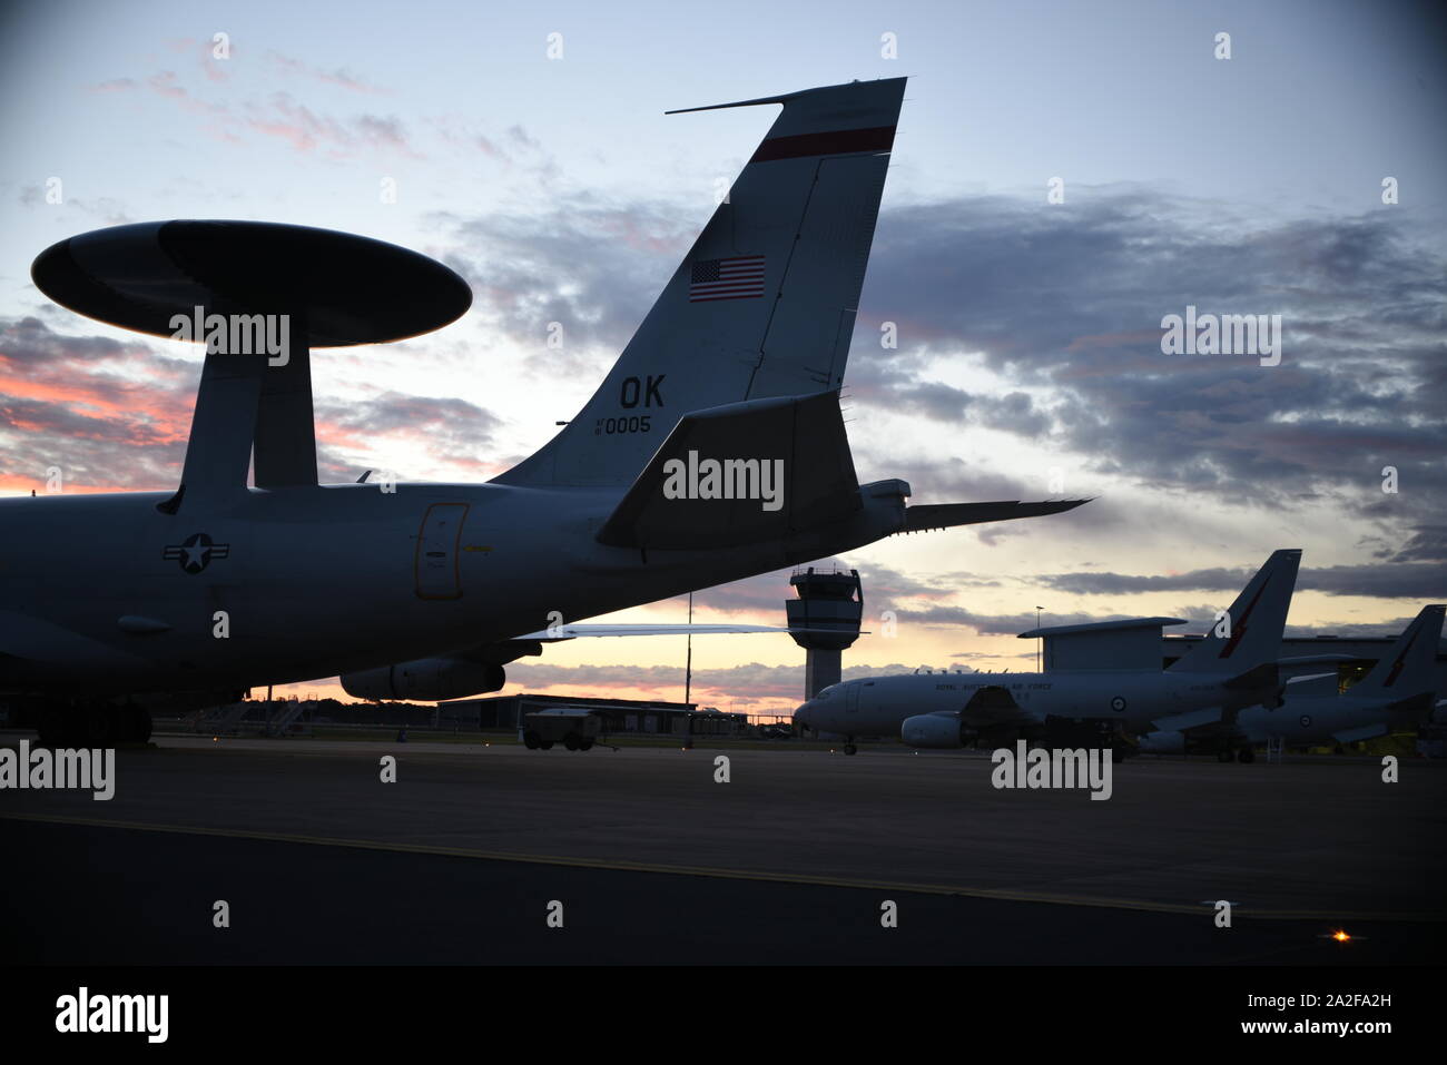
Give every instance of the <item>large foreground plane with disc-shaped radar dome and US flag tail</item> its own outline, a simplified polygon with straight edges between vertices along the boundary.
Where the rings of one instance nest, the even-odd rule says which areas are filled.
[[[32,276],[59,304],[207,349],[178,488],[0,502],[0,693],[62,742],[149,732],[149,693],[340,674],[457,697],[586,618],[1078,505],[909,506],[906,482],[855,476],[839,388],[903,91],[742,101],[780,111],[726,200],[592,399],[488,483],[317,483],[313,352],[460,317],[441,263],[252,221],[46,249]]]

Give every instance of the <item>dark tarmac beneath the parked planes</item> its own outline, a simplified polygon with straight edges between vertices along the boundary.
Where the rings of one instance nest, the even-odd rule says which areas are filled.
[[[972,752],[787,741],[158,737],[116,758],[109,802],[0,790],[14,961],[1437,964],[1447,945],[1447,767],[1421,760],[1383,783],[1375,758],[1139,758],[1100,802],[997,790]]]

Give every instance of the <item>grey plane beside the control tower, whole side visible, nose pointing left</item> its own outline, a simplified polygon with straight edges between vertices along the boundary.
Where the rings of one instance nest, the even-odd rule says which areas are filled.
[[[1176,724],[1230,721],[1276,703],[1282,628],[1299,550],[1275,551],[1211,632],[1160,669],[1160,627],[1133,618],[1022,632],[1045,640],[1043,673],[913,673],[846,680],[794,712],[794,724],[845,737],[896,735],[910,747],[1104,744],[1119,761],[1129,737]],[[1307,661],[1307,660],[1291,660]],[[1159,722],[1168,722],[1160,725]]]

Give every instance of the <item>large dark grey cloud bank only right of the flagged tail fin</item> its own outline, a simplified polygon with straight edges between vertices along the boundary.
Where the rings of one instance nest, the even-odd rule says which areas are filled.
[[[848,379],[930,418],[1048,428],[1095,472],[1198,498],[1424,519],[1447,488],[1447,259],[1388,211],[1263,224],[1202,207],[1129,190],[1071,210],[978,197],[888,211]],[[1160,318],[1188,304],[1282,314],[1282,363],[1162,355]],[[878,349],[884,320],[899,353]],[[928,379],[943,356],[978,356],[1013,388],[975,405]],[[1412,495],[1385,496],[1386,464]]]

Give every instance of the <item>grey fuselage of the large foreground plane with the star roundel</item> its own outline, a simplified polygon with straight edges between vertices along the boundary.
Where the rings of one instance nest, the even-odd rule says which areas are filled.
[[[904,509],[867,496],[806,535],[641,551],[595,540],[618,489],[394,488],[249,489],[174,515],[161,492],[0,501],[0,690],[249,687],[447,654],[858,547]]]

